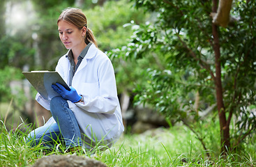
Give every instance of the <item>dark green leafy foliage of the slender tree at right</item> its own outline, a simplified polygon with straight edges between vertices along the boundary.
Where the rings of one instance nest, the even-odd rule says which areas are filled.
[[[135,7],[156,13],[156,22],[134,24],[137,29],[130,43],[112,51],[112,56],[137,61],[155,54],[165,61],[163,69],[142,68],[148,84],[137,86],[137,102],[152,104],[168,118],[193,127],[193,122],[204,119],[202,114],[217,103],[216,74],[220,68],[216,62],[220,62],[223,111],[227,116],[220,125],[232,128],[227,140],[236,148],[256,124],[255,2],[236,1],[232,15],[241,17],[240,21],[218,29],[220,59],[215,57],[211,1],[138,0]]]

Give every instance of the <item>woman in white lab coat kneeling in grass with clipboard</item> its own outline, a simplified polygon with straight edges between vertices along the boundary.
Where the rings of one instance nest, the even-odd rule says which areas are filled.
[[[52,113],[43,127],[29,134],[32,145],[53,147],[60,138],[66,148],[95,145],[110,146],[123,133],[121,109],[116,91],[114,69],[110,59],[97,48],[96,40],[82,10],[66,8],[57,21],[59,38],[68,52],[56,71],[70,86],[52,88],[60,96],[36,100]]]

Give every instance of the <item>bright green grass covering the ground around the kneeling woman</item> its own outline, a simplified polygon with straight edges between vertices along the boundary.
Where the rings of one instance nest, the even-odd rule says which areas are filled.
[[[31,166],[43,157],[42,148],[29,148],[24,142],[26,132],[6,132],[1,123],[0,166]],[[213,127],[212,127],[213,128]],[[214,128],[213,128],[214,129]],[[218,132],[218,131],[216,131]],[[206,132],[205,132],[206,133]],[[211,129],[208,135],[214,134]],[[207,134],[206,133],[206,134]],[[109,150],[84,152],[81,156],[103,161],[107,166],[256,166],[255,138],[243,145],[243,151],[229,154],[226,159],[219,156],[216,143],[208,141],[211,158],[186,127],[155,129],[136,135],[123,135]],[[211,145],[211,142],[213,143]],[[61,154],[61,147],[49,154]],[[65,153],[70,154],[70,153]],[[186,161],[186,162],[184,162]]]

